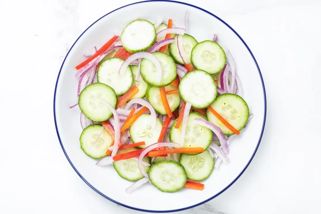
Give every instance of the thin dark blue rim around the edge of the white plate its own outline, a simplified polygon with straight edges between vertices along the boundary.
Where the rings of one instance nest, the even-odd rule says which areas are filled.
[[[180,208],[180,209],[176,209],[176,210],[143,210],[143,209],[139,209],[139,208],[127,206],[126,204],[122,204],[122,203],[120,203],[120,202],[118,202],[118,201],[114,201],[113,199],[111,199],[111,198],[109,198],[108,196],[106,196],[106,195],[104,195],[103,193],[101,193],[99,190],[97,190],[95,187],[93,187],[90,183],[88,183],[88,181],[86,181],[86,179],[85,179],[84,177],[82,177],[82,175],[81,175],[81,174],[78,172],[78,170],[74,167],[73,163],[72,163],[71,160],[69,159],[69,157],[68,157],[68,155],[67,155],[67,153],[66,153],[66,151],[65,151],[65,149],[64,149],[64,146],[62,145],[62,142],[61,142],[61,139],[60,139],[60,136],[59,136],[58,127],[57,127],[57,122],[56,122],[56,111],[55,111],[56,105],[55,105],[55,103],[56,103],[56,91],[57,91],[57,85],[58,85],[58,81],[59,81],[59,76],[60,76],[61,69],[62,69],[62,67],[64,66],[65,60],[66,60],[66,58],[67,58],[70,50],[74,47],[74,45],[76,44],[76,42],[78,41],[78,39],[79,39],[79,38],[82,36],[82,34],[84,34],[93,24],[95,24],[97,21],[99,21],[100,19],[104,18],[104,17],[107,16],[108,14],[113,13],[114,11],[117,11],[117,10],[123,8],[123,7],[127,7],[127,6],[132,5],[132,4],[140,4],[140,3],[145,3],[145,2],[172,2],[172,3],[178,3],[178,4],[185,4],[185,5],[187,5],[187,6],[191,6],[191,7],[194,7],[194,8],[196,8],[196,9],[199,9],[199,10],[205,12],[205,13],[208,13],[208,14],[212,15],[213,17],[215,17],[216,19],[220,20],[222,23],[224,23],[227,27],[229,27],[229,28],[239,37],[239,39],[243,42],[243,44],[245,45],[245,47],[247,48],[247,50],[250,52],[250,54],[251,54],[251,56],[252,56],[252,58],[253,58],[253,60],[254,60],[254,62],[255,62],[255,64],[256,64],[257,70],[258,70],[258,72],[259,72],[259,74],[260,74],[260,78],[261,78],[261,82],[262,82],[262,87],[263,87],[263,94],[264,94],[264,119],[263,119],[262,130],[261,130],[260,138],[259,138],[259,140],[258,140],[258,142],[257,142],[257,146],[256,146],[256,148],[255,148],[255,150],[254,150],[254,152],[253,152],[252,157],[251,157],[250,160],[248,161],[247,165],[244,167],[244,169],[241,171],[241,173],[240,173],[229,185],[227,185],[223,190],[221,190],[221,192],[217,193],[216,195],[214,195],[213,197],[211,197],[211,198],[209,198],[209,199],[207,199],[207,200],[205,200],[205,201],[202,201],[202,202],[200,202],[200,203],[194,204],[194,205],[189,206],[189,207]],[[138,210],[138,211],[143,211],[143,212],[153,212],[153,213],[178,212],[178,211],[182,211],[182,210],[191,209],[191,208],[193,208],[193,207],[199,206],[199,205],[201,205],[201,204],[204,204],[204,203],[212,200],[213,198],[219,196],[221,193],[223,193],[225,190],[227,190],[232,184],[234,184],[234,182],[235,182],[237,179],[239,179],[239,177],[243,174],[243,172],[247,169],[248,165],[251,163],[251,161],[252,161],[252,159],[253,159],[253,157],[254,157],[254,155],[255,155],[255,153],[256,153],[259,145],[260,145],[260,142],[261,142],[261,139],[262,139],[262,135],[263,135],[263,131],[264,131],[264,127],[265,127],[265,118],[266,118],[266,94],[265,94],[265,86],[264,86],[263,77],[262,77],[260,68],[259,68],[259,66],[258,66],[258,64],[257,64],[257,62],[256,62],[256,59],[255,59],[252,51],[250,50],[250,48],[249,48],[249,47],[247,46],[247,44],[245,43],[245,41],[240,37],[240,35],[239,35],[230,25],[228,25],[225,21],[221,20],[219,17],[217,17],[217,16],[214,15],[213,13],[210,13],[210,12],[208,12],[208,11],[206,11],[206,10],[200,8],[200,7],[197,7],[197,6],[195,6],[195,5],[192,5],[192,4],[187,4],[187,3],[178,2],[178,1],[172,1],[172,0],[148,0],[148,1],[136,2],[136,3],[132,3],[132,4],[127,4],[127,5],[125,5],[125,6],[119,7],[118,9],[113,10],[113,11],[107,13],[106,15],[100,17],[97,21],[95,21],[94,23],[92,23],[85,31],[82,32],[82,34],[78,37],[78,39],[76,39],[76,41],[74,42],[74,44],[71,46],[70,50],[68,51],[68,53],[67,53],[67,55],[66,55],[66,57],[65,57],[65,59],[64,59],[64,61],[63,61],[63,63],[62,63],[62,65],[61,65],[61,67],[60,67],[60,70],[59,70],[59,73],[58,73],[58,77],[57,77],[57,81],[56,81],[56,86],[55,86],[55,94],[54,94],[54,119],[55,119],[55,126],[56,126],[57,136],[58,136],[58,139],[59,139],[61,148],[62,148],[62,150],[64,151],[67,160],[69,161],[70,165],[74,168],[74,170],[76,171],[76,173],[79,175],[79,177],[81,177],[81,179],[82,179],[88,186],[90,186],[91,189],[93,189],[94,191],[96,191],[96,192],[97,192],[98,194],[100,194],[101,196],[107,198],[109,201],[112,201],[112,202],[114,202],[114,203],[116,203],[116,204],[119,204],[119,205],[121,205],[121,206],[124,206],[124,207],[126,207],[126,208],[130,208],[130,209],[133,209],[133,210]]]

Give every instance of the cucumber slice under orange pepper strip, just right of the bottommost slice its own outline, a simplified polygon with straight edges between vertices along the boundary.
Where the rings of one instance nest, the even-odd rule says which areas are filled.
[[[208,150],[198,155],[182,154],[179,158],[179,163],[184,166],[187,178],[194,181],[204,180],[214,168],[214,158],[212,158]]]

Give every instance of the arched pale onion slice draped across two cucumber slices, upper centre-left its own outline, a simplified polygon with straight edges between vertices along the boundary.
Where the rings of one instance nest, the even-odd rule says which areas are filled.
[[[157,82],[160,82],[161,81],[161,77],[162,77],[162,74],[163,74],[163,71],[162,71],[162,68],[161,68],[161,65],[160,65],[160,61],[158,60],[158,58],[154,55],[152,55],[151,53],[147,53],[147,52],[138,52],[138,53],[135,53],[131,56],[129,56],[125,62],[120,66],[120,69],[119,69],[119,74],[124,74],[126,72],[126,69],[128,67],[128,65],[134,61],[135,59],[139,59],[139,58],[145,58],[145,59],[148,59],[148,60],[151,60],[152,63],[155,64],[156,66],[156,81]]]

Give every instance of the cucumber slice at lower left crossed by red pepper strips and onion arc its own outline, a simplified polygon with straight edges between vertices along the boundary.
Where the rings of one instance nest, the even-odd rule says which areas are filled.
[[[117,154],[122,154],[130,151],[137,150],[136,148],[129,148],[124,150],[119,150]],[[147,163],[151,163],[149,157],[143,157],[143,160]],[[138,160],[137,159],[126,159],[126,160],[119,160],[113,163],[114,169],[118,173],[118,175],[128,181],[137,181],[144,177],[142,173],[139,171],[138,168]],[[149,168],[151,166],[143,165],[144,171],[148,173]]]

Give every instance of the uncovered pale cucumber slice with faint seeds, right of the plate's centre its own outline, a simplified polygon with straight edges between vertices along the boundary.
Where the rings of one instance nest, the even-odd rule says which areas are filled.
[[[181,79],[178,90],[183,100],[192,103],[194,108],[208,107],[217,96],[213,77],[203,70],[188,72]]]

